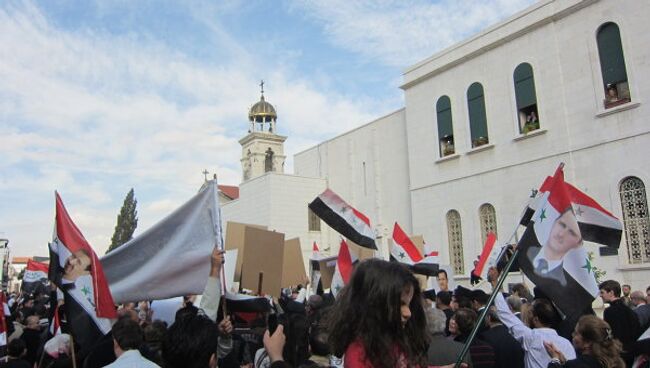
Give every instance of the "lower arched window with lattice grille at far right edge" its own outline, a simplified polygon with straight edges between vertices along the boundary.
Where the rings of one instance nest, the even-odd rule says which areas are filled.
[[[641,179],[630,176],[621,181],[619,190],[629,262],[650,262],[650,219],[645,185]]]

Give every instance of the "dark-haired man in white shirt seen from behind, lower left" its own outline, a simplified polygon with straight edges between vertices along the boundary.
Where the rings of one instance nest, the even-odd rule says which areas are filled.
[[[160,368],[138,351],[142,345],[142,330],[130,317],[121,317],[113,325],[113,350],[117,359],[105,368]]]

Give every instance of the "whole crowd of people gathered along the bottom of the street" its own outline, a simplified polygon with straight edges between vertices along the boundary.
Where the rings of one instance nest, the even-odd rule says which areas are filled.
[[[200,302],[188,298],[170,325],[148,302],[126,303],[111,333],[84,353],[65,321],[63,334],[47,326],[60,304],[56,292],[11,295],[7,361],[0,367],[452,367],[486,308],[461,366],[650,364],[650,287],[644,293],[608,280],[599,286],[608,305],[602,318],[591,308],[562,316],[540,290],[524,284],[493,291],[494,305],[487,307],[488,292],[423,291],[406,266],[368,259],[336,299],[298,286],[269,298],[268,311],[224,311],[222,262],[215,249]],[[492,268],[488,281],[495,286],[498,276]]]

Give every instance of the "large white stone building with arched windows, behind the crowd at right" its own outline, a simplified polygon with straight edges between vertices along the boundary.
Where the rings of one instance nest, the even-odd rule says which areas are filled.
[[[485,234],[507,240],[565,162],[566,180],[625,223],[618,254],[587,244],[596,266],[645,290],[648,15],[647,1],[540,1],[408,68],[403,109],[296,154],[295,175],[251,175],[224,217],[300,236],[306,256],[313,240],[335,252],[338,235],[310,231],[307,210],[330,187],[382,238],[395,221],[422,234],[462,281]]]

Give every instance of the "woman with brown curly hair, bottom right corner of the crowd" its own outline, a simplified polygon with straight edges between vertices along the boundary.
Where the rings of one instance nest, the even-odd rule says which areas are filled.
[[[612,336],[612,329],[602,319],[587,315],[578,320],[573,331],[573,346],[578,351],[574,360],[566,360],[552,343],[544,342],[544,347],[553,358],[549,367],[575,368],[624,368],[621,358],[621,342]]]

